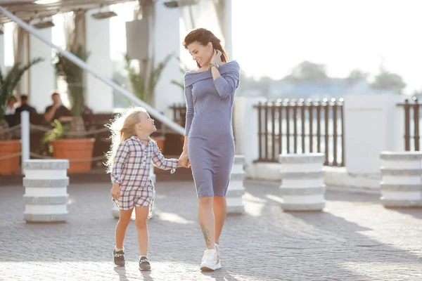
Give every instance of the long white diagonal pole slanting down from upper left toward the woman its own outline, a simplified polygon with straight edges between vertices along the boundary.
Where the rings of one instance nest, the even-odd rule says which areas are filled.
[[[145,107],[145,109],[153,115],[156,119],[158,119],[162,124],[165,124],[172,128],[177,133],[180,133],[181,135],[184,135],[184,128],[177,124],[176,122],[173,122],[172,119],[166,117],[165,115],[162,115],[158,110],[155,110],[154,107],[151,107],[151,105],[148,105],[148,103],[143,102],[143,100],[140,100],[134,94],[130,93],[129,91],[123,89],[121,86],[115,84],[112,80],[108,79],[108,77],[105,77],[103,74],[100,74],[96,72],[96,70],[92,69],[87,63],[85,63],[83,60],[78,58],[76,55],[63,50],[63,48],[60,48],[59,46],[56,46],[51,41],[46,40],[44,37],[42,37],[37,30],[34,29],[31,25],[28,25],[26,22],[18,18],[17,16],[13,15],[13,13],[6,10],[6,8],[0,6],[0,11],[4,13],[8,18],[16,22],[18,25],[20,25],[24,30],[27,32],[30,32],[30,34],[34,35],[34,37],[37,37],[39,40],[43,41],[45,44],[51,46],[51,48],[55,48],[57,51],[59,51],[65,58],[68,58],[68,60],[72,61],[72,63],[75,63],[75,65],[81,67],[84,70],[87,70],[87,72],[91,73],[96,77],[97,79],[100,79],[104,83],[106,83],[108,86],[112,87],[119,93],[121,93],[126,98],[129,98],[129,100],[132,100],[136,105],[141,105],[142,107]]]

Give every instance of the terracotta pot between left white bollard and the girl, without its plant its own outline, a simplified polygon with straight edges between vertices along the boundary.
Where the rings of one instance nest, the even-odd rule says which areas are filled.
[[[60,139],[51,141],[53,157],[56,159],[69,159],[68,174],[87,173],[91,171],[91,158],[94,150],[95,138]],[[82,160],[77,161],[72,160]]]

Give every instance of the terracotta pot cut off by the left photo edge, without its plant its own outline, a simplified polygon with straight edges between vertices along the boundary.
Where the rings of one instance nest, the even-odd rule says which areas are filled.
[[[0,158],[20,152],[20,140],[0,141]],[[20,155],[0,160],[0,175],[17,174]]]

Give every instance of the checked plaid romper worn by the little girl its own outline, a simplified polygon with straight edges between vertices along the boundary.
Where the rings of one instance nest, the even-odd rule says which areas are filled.
[[[150,140],[144,145],[139,138],[132,136],[117,148],[111,181],[120,183],[120,197],[113,202],[121,210],[134,207],[150,206],[148,219],[152,216],[154,202],[154,184],[151,180],[151,161],[159,169],[172,169],[173,174],[179,166],[178,159],[165,159],[158,149],[157,143]]]

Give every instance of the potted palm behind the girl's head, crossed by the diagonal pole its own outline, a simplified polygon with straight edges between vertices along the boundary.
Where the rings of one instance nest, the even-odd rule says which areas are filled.
[[[141,71],[137,71],[136,67],[132,65],[132,61],[129,56],[126,54],[124,58],[126,59],[126,70],[129,74],[129,81],[132,91],[135,95],[140,98],[141,100],[145,101],[149,105],[154,105],[154,91],[155,86],[157,85],[158,80],[162,74],[162,70],[166,67],[167,63],[172,58],[172,54],[167,55],[161,63],[157,65],[151,72],[147,75],[142,73]],[[162,150],[164,148],[165,136],[164,133],[161,132],[159,136],[154,136],[154,141],[157,143],[158,148]]]

